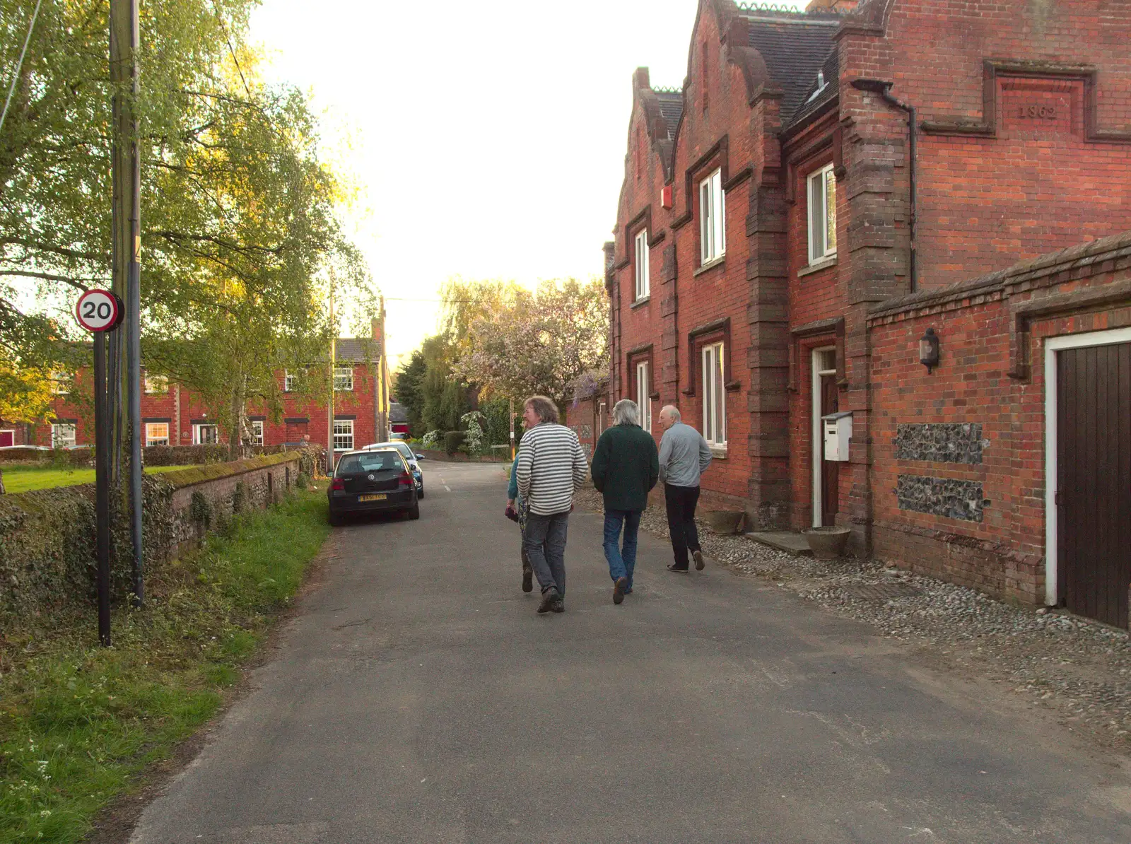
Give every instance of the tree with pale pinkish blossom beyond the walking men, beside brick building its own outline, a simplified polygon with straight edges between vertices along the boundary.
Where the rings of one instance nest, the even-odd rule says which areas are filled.
[[[573,381],[607,367],[608,303],[598,279],[543,282],[536,293],[474,320],[467,348],[452,365],[456,377],[487,394],[543,394],[564,408]]]

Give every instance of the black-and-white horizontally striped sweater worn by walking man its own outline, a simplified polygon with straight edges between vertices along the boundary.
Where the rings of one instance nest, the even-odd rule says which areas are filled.
[[[577,433],[543,422],[523,434],[518,449],[518,494],[536,516],[568,513],[573,490],[585,483],[588,465]]]

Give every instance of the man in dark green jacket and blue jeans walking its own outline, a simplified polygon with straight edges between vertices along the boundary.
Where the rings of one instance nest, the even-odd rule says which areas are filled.
[[[613,603],[619,604],[632,592],[640,514],[648,506],[648,490],[659,477],[656,440],[640,428],[636,402],[622,398],[613,405],[613,427],[597,440],[589,471],[593,485],[605,497],[605,559],[613,578]]]

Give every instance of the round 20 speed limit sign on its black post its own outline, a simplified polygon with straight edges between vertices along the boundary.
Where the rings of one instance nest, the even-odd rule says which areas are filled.
[[[106,333],[122,321],[121,300],[106,290],[88,290],[75,318],[94,333],[94,522],[98,579],[98,640],[110,645],[110,420],[106,406]]]

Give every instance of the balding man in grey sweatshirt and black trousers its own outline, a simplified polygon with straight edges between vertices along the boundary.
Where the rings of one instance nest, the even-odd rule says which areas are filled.
[[[670,571],[688,570],[688,551],[696,569],[703,567],[703,552],[696,529],[696,505],[699,502],[699,475],[710,465],[710,447],[691,425],[680,421],[680,411],[666,405],[659,412],[664,437],[659,441],[659,480],[664,482],[667,505],[667,529],[672,535],[675,562]]]

